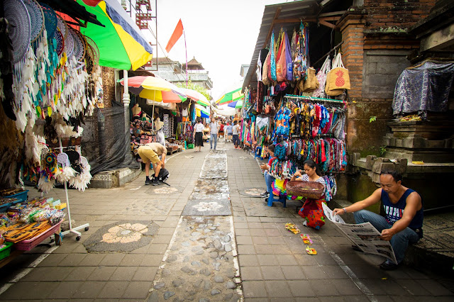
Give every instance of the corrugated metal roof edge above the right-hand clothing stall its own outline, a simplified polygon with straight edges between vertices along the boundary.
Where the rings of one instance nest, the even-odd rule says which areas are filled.
[[[269,43],[268,33],[270,28],[275,21],[276,12],[280,9],[277,20],[282,19],[297,19],[300,18],[304,21],[304,18],[309,16],[316,16],[316,14],[321,10],[318,1],[316,0],[301,0],[301,1],[292,1],[282,4],[273,4],[265,6],[262,17],[262,24],[260,25],[260,31],[258,33],[257,43],[255,43],[255,49],[253,57],[250,60],[250,68],[248,73],[245,76],[243,82],[243,91],[245,87],[249,86],[250,83],[257,82],[257,60],[260,55],[260,50],[266,46],[265,43]],[[293,28],[295,23],[275,23],[274,28],[280,28],[281,26]]]

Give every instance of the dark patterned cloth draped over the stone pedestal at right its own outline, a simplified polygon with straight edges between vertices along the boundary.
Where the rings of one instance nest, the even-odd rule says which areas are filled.
[[[448,110],[453,79],[454,63],[425,62],[420,67],[404,69],[394,91],[393,114]]]

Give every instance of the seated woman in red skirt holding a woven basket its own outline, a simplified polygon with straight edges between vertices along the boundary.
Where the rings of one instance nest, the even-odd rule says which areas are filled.
[[[306,160],[304,162],[304,172],[306,174],[303,175],[301,171],[297,171],[290,181],[317,181],[323,184],[323,187],[326,189],[325,180],[321,177],[319,167],[317,167],[314,160]],[[325,194],[320,199],[306,199],[298,212],[299,216],[304,218],[303,225],[320,230],[320,227],[325,224],[322,203],[326,203]]]

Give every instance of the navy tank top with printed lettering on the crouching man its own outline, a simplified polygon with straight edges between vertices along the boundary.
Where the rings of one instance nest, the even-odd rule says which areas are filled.
[[[387,222],[391,225],[394,225],[394,223],[402,218],[402,215],[404,214],[404,208],[406,206],[406,198],[412,193],[414,190],[412,189],[406,189],[404,195],[397,201],[397,203],[392,203],[389,200],[389,195],[387,194],[386,191],[382,190],[382,204],[384,208],[384,213],[386,214],[385,218]],[[422,203],[422,200],[421,200]],[[411,220],[411,223],[409,224],[409,228],[411,229],[416,229],[416,228],[422,228],[423,226],[423,207],[421,206],[421,210],[416,211],[416,214]]]

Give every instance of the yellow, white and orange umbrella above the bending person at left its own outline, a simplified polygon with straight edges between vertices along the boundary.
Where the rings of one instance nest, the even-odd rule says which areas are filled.
[[[124,79],[119,81],[124,85]],[[162,101],[164,103],[181,103],[187,96],[182,88],[159,77],[128,77],[129,91],[143,99]]]

